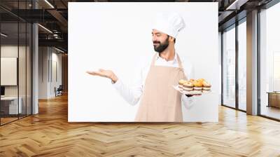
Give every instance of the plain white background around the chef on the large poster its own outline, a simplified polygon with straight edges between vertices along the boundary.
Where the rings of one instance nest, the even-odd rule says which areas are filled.
[[[131,106],[108,78],[85,71],[111,69],[128,85],[154,53],[151,25],[158,12],[186,22],[176,52],[193,64],[195,77],[214,91],[183,107],[184,121],[218,121],[218,3],[69,3],[69,122],[134,121]]]

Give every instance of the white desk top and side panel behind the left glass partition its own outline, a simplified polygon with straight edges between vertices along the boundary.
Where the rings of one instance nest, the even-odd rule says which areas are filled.
[[[18,100],[20,100],[20,103],[18,103]],[[22,97],[1,97],[1,103],[8,102],[8,114],[22,114]],[[4,105],[5,105],[4,104]],[[2,104],[1,104],[2,106]],[[19,113],[18,113],[19,111]]]

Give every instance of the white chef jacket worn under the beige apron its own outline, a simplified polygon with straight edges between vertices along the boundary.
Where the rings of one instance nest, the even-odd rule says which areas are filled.
[[[193,66],[190,62],[187,62],[186,60],[182,60],[180,57],[180,60],[182,62],[184,73],[186,74],[187,79],[193,78]],[[141,99],[141,95],[144,92],[144,86],[146,82],[146,77],[148,75],[148,71],[150,70],[152,63],[152,58],[150,62],[144,67],[141,68],[141,71],[139,71],[139,76],[135,77],[134,83],[132,83],[132,86],[127,86],[123,81],[118,78],[118,81],[116,83],[113,83],[113,87],[118,90],[118,93],[131,105],[135,105],[139,102]],[[157,57],[155,58],[155,66],[166,66],[166,67],[179,67],[179,63],[177,60],[177,53],[175,53],[174,60],[165,60],[164,58],[160,57],[159,53],[157,54]],[[174,89],[175,90],[175,89]],[[188,108],[191,104],[195,101],[195,96],[193,97],[187,97],[186,95],[182,95],[181,98],[182,104]]]

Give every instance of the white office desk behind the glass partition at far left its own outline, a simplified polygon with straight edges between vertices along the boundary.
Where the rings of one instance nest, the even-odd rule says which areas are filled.
[[[4,114],[22,114],[22,97],[1,97],[1,111]]]

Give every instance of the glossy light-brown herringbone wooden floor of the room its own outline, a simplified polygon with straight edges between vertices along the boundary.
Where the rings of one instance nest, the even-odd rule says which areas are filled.
[[[0,156],[280,156],[280,123],[226,107],[218,123],[68,123],[62,96],[1,126]]]

